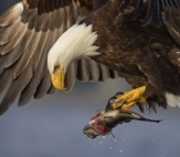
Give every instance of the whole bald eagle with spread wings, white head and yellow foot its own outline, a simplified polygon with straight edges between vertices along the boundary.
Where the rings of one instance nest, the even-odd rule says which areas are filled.
[[[124,109],[180,106],[179,0],[22,0],[0,27],[0,114],[19,95],[22,106],[70,91],[76,76],[126,78]]]

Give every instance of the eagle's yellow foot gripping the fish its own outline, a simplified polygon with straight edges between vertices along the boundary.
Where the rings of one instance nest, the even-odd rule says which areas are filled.
[[[121,106],[121,109],[129,111],[135,104],[145,104],[146,98],[144,96],[144,93],[146,91],[146,86],[141,86],[138,88],[135,88],[130,92],[125,93],[124,95],[120,95],[115,102],[119,103],[121,101],[125,101],[125,103]],[[118,104],[114,105],[116,108],[119,107]]]

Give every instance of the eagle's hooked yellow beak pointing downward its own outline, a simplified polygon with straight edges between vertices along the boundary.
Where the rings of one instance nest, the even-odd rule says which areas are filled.
[[[63,91],[66,90],[64,67],[56,70],[56,72],[51,75],[51,80],[55,88]]]

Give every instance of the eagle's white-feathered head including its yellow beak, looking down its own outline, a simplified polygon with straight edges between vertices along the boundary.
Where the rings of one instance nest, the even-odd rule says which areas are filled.
[[[47,67],[52,83],[57,90],[65,90],[65,73],[70,63],[82,57],[99,54],[96,32],[92,31],[92,24],[74,24],[64,32],[47,55]]]

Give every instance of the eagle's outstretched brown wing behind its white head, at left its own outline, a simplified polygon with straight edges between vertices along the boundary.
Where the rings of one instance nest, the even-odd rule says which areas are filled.
[[[93,0],[22,0],[0,15],[0,115],[19,97],[19,105],[32,96],[41,98],[55,92],[46,65],[47,52],[72,24],[87,17]],[[75,78],[106,81],[119,77],[93,60],[72,63],[67,71],[70,91]]]

